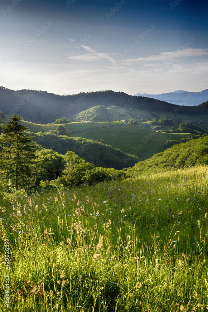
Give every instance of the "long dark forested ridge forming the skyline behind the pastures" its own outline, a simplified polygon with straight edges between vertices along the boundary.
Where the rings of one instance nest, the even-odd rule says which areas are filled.
[[[7,117],[13,113],[34,123],[53,123],[57,118],[79,114],[97,105],[117,105],[125,109],[178,112],[180,114],[208,114],[208,102],[198,106],[173,105],[144,96],[131,96],[123,92],[97,91],[73,95],[57,95],[37,90],[10,90],[0,87],[0,110]]]

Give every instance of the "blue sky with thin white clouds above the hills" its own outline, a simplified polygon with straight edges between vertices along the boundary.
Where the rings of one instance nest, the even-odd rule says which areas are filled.
[[[191,91],[208,76],[207,9],[188,0],[1,0],[0,85]]]

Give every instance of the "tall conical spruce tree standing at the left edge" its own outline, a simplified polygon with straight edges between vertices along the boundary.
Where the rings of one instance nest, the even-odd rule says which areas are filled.
[[[0,136],[0,182],[8,184],[8,180],[16,189],[32,186],[35,182],[37,163],[36,147],[30,134],[24,134],[29,129],[19,121],[21,116],[13,114],[7,121]]]

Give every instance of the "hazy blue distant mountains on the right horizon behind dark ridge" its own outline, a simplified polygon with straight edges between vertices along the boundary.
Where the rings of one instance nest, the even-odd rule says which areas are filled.
[[[177,90],[169,93],[161,94],[147,94],[137,93],[136,96],[146,96],[148,98],[165,101],[167,103],[194,106],[199,105],[208,100],[208,89],[201,92],[188,92],[184,90]]]

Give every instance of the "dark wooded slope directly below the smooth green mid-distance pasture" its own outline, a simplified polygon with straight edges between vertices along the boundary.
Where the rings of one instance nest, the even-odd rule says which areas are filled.
[[[32,133],[32,139],[45,149],[52,149],[60,154],[72,151],[93,163],[96,167],[123,169],[133,167],[141,160],[136,156],[129,155],[115,149],[110,145],[102,144],[84,138],[71,138],[67,135],[57,135],[49,132]]]

